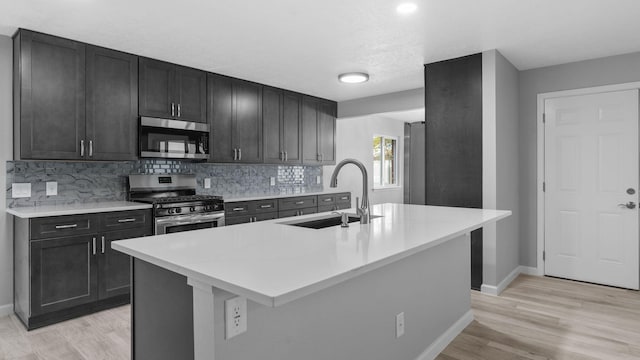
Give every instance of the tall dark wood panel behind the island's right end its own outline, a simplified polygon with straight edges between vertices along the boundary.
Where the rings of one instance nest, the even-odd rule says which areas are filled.
[[[482,207],[482,54],[427,64],[427,205]],[[471,288],[482,285],[482,230],[471,233]]]

